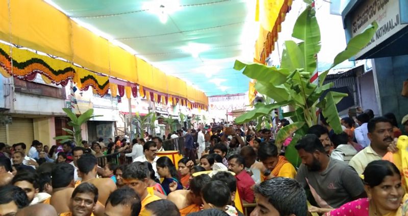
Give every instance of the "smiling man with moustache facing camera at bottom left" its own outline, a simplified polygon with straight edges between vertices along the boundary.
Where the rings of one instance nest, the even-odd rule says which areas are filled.
[[[91,216],[98,201],[98,188],[93,184],[84,182],[73,190],[69,212],[61,213],[60,216]]]

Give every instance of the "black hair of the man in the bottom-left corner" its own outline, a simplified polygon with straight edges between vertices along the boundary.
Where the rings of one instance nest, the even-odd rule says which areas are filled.
[[[14,201],[18,209],[29,206],[30,202],[25,191],[14,185],[0,187],[0,205]]]

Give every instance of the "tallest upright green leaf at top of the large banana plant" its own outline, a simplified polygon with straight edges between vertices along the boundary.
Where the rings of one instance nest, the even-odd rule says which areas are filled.
[[[299,48],[303,53],[304,69],[309,73],[316,70],[316,56],[320,51],[320,28],[316,19],[316,11],[308,6],[297,18],[292,37],[302,40]]]

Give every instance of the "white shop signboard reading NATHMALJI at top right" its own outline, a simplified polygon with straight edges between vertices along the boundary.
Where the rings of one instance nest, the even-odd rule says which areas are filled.
[[[362,33],[373,21],[377,21],[378,29],[371,41],[355,58],[364,55],[376,45],[391,37],[407,24],[401,23],[399,0],[367,0],[351,12],[351,37]]]

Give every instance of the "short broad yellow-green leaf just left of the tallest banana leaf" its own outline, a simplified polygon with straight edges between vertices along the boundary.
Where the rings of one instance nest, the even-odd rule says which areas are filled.
[[[304,68],[303,54],[299,46],[293,40],[285,41],[286,49],[282,55],[281,67],[293,71],[297,68]]]

